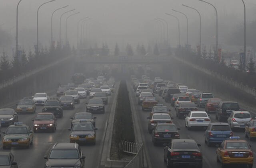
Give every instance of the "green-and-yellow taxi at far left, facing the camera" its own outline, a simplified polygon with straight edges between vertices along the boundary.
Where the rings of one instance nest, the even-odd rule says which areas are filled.
[[[27,124],[14,123],[14,125],[9,125],[3,134],[3,149],[11,147],[29,148],[33,144],[34,133]]]

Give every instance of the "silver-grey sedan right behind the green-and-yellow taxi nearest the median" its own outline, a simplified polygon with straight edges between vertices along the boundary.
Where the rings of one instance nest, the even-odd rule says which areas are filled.
[[[90,121],[92,123],[92,125],[95,127],[96,118],[97,117],[92,117],[92,113],[87,113],[87,112],[75,113],[74,117],[70,118],[71,119],[71,128],[73,127],[74,123],[79,123],[80,120]]]

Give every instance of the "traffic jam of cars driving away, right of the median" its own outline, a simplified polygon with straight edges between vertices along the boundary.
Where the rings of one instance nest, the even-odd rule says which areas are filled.
[[[131,88],[142,129],[150,135],[144,135],[146,145],[152,144],[148,150],[155,160],[162,157],[167,167],[202,168],[212,164],[209,156],[215,157],[213,167],[253,167],[250,142],[256,137],[256,119],[238,102],[146,75],[141,79],[132,75]]]

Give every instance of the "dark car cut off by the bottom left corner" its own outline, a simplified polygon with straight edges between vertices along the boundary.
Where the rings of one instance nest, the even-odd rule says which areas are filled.
[[[18,168],[18,164],[11,152],[0,152],[0,168]]]

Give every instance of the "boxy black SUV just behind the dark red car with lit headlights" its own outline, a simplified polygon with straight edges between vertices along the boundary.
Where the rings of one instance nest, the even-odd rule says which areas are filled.
[[[46,100],[42,112],[53,113],[55,116],[58,115],[59,117],[63,116],[63,110],[58,99],[49,99]]]

